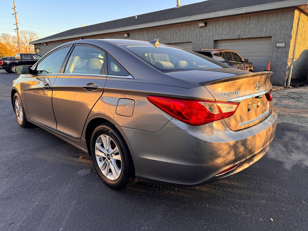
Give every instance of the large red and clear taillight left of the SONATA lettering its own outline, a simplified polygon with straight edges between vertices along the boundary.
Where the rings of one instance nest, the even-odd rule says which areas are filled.
[[[199,126],[234,114],[238,103],[178,99],[148,95],[156,107],[186,124]]]

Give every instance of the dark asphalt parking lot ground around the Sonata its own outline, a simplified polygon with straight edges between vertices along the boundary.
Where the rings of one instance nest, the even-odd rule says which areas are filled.
[[[114,191],[90,156],[18,125],[17,76],[0,70],[0,230],[308,229],[307,85],[274,91],[276,136],[249,168],[203,186],[138,181]]]

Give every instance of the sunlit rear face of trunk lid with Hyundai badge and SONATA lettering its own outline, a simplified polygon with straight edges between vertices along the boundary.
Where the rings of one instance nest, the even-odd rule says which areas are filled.
[[[270,101],[265,94],[272,88],[271,75],[272,72],[248,73],[200,84],[218,102],[239,103],[235,113],[224,119],[231,130],[237,131],[251,127],[270,115]]]

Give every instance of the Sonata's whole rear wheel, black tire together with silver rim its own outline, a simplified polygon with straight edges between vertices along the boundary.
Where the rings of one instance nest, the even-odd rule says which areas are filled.
[[[135,182],[135,169],[128,147],[120,132],[111,124],[101,124],[94,129],[91,156],[96,172],[110,188],[120,190]]]

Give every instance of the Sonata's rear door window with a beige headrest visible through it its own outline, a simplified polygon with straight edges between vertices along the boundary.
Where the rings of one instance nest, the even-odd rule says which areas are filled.
[[[68,58],[64,73],[105,74],[105,53],[87,46],[76,46]]]

